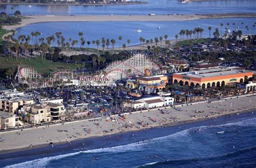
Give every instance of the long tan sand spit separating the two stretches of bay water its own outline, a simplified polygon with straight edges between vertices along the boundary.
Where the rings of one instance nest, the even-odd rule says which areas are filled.
[[[215,18],[231,18],[231,17],[256,17],[256,13],[220,13],[207,15],[103,15],[103,16],[24,16],[22,23],[18,25],[5,25],[3,29],[15,30],[18,27],[30,25],[33,23],[44,22],[169,22],[184,21],[195,19],[215,19]]]

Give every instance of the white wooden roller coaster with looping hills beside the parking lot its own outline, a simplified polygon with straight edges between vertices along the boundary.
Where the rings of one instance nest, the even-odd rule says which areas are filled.
[[[49,81],[63,80],[72,82],[73,85],[83,86],[111,86],[115,81],[127,79],[130,76],[150,76],[161,73],[161,66],[146,55],[137,54],[124,61],[114,61],[103,70],[104,74],[85,76],[73,71],[59,71],[49,75],[46,80],[35,69],[19,65],[15,79],[19,83],[26,83],[30,88],[48,87]]]

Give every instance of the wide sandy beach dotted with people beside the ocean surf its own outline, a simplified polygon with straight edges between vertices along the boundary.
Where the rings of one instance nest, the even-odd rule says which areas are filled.
[[[212,103],[197,103],[180,107],[183,111],[167,108],[169,114],[161,114],[159,110],[129,114],[125,120],[113,116],[114,120],[105,116],[98,121],[76,121],[59,125],[50,125],[33,129],[1,132],[0,149],[6,150],[28,148],[29,146],[49,143],[69,143],[77,139],[100,137],[120,132],[137,131],[163,125],[179,125],[199,120],[214,120],[214,117],[238,114],[256,109],[256,95],[227,98]],[[227,116],[228,117],[228,116]],[[156,118],[156,122],[152,121]],[[17,143],[18,139],[18,143]],[[32,147],[35,148],[35,147]],[[11,152],[11,151],[10,151]],[[0,152],[1,153],[1,152]]]

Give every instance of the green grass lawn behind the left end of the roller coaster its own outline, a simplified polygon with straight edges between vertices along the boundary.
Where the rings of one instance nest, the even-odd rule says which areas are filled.
[[[41,74],[48,74],[56,70],[75,69],[75,65],[73,64],[51,62],[49,60],[46,60],[45,64],[43,64],[42,59],[35,58],[30,59],[30,61],[24,58],[18,58],[17,60],[15,58],[0,58],[0,68],[17,68],[19,64],[31,66]]]

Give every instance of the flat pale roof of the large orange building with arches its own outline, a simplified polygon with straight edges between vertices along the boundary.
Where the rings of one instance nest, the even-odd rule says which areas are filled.
[[[239,67],[224,67],[215,69],[206,69],[201,71],[181,72],[176,73],[183,76],[194,77],[194,78],[210,78],[215,76],[225,76],[239,73],[247,73],[252,71],[242,70]]]

